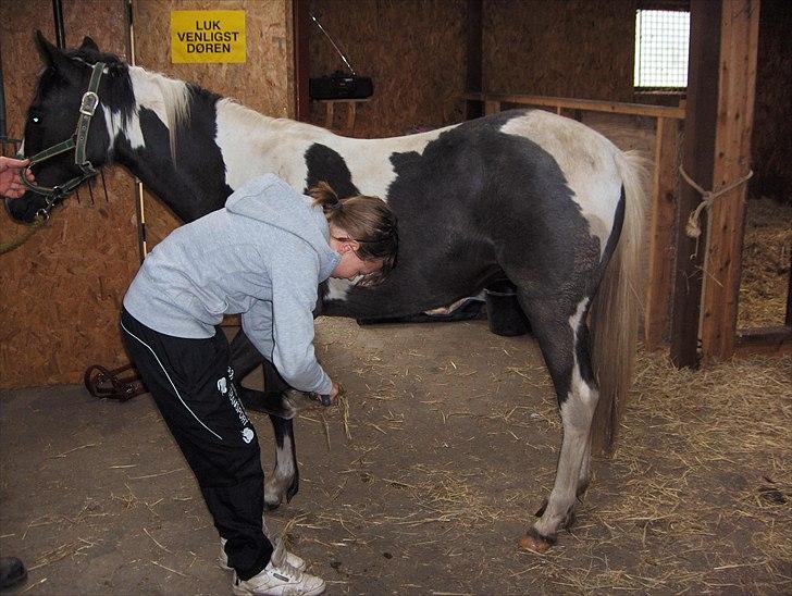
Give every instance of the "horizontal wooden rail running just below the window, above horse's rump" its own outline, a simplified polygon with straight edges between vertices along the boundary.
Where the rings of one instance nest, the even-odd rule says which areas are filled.
[[[519,94],[465,94],[471,101],[499,101],[500,103],[518,103],[524,105],[542,105],[545,108],[562,108],[566,110],[585,110],[589,112],[607,112],[612,114],[633,114],[639,116],[668,117],[684,120],[684,109],[670,105],[648,105],[645,103],[628,103],[623,101],[604,101],[598,99],[573,99],[566,97],[531,96]]]

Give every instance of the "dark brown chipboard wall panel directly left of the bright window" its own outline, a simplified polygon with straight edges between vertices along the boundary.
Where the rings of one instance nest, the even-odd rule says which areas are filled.
[[[484,0],[483,88],[632,101],[632,0]]]

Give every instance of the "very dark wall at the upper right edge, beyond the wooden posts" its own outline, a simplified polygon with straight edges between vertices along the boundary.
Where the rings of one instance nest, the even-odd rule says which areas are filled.
[[[792,203],[792,7],[762,0],[752,190]]]

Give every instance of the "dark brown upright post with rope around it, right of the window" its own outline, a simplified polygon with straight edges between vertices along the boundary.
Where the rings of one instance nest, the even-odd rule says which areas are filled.
[[[682,165],[704,188],[711,188],[715,124],[718,103],[721,3],[691,0],[688,109]],[[675,282],[671,320],[671,361],[676,367],[698,365],[698,318],[706,222],[702,235],[685,234],[688,215],[702,198],[688,184],[679,189],[679,222],[675,239]]]

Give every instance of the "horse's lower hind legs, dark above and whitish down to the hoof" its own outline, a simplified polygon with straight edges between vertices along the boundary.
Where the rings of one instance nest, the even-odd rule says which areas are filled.
[[[532,550],[544,551],[555,543],[559,529],[574,520],[574,505],[589,482],[591,424],[598,392],[592,374],[585,314],[589,299],[582,299],[572,314],[559,302],[523,299],[547,369],[553,378],[564,424],[556,480],[541,518],[520,541]]]

